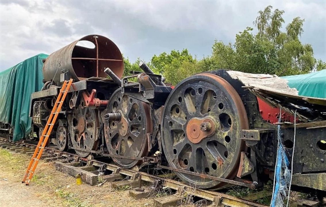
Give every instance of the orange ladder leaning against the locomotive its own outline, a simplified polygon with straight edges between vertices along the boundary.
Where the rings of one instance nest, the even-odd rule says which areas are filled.
[[[53,106],[53,109],[51,111],[50,117],[48,119],[48,122],[46,123],[46,126],[42,132],[41,137],[39,138],[37,147],[35,149],[35,152],[32,156],[31,161],[29,162],[28,168],[26,170],[25,176],[22,179],[22,183],[26,183],[26,185],[29,185],[29,182],[31,181],[33,174],[35,172],[38,160],[41,158],[43,150],[49,140],[52,128],[57,120],[58,114],[61,110],[62,104],[67,96],[68,90],[71,86],[72,79],[69,81],[65,81],[62,85],[62,88],[60,89],[60,93],[58,95],[57,100],[55,101],[55,104]],[[53,116],[54,115],[54,116]],[[26,181],[26,178],[28,177],[28,180]],[[25,182],[26,181],[26,182]]]

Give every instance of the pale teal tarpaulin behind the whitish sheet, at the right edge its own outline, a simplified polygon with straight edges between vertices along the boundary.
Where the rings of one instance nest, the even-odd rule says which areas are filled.
[[[326,69],[304,75],[281,77],[289,81],[291,88],[296,88],[300,96],[326,98]]]

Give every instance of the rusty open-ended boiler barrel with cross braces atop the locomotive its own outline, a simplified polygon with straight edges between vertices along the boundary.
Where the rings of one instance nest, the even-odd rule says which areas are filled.
[[[119,48],[106,37],[88,35],[49,55],[44,62],[43,76],[45,81],[53,80],[60,85],[61,73],[68,72],[75,81],[106,78],[106,67],[122,77],[124,63]]]

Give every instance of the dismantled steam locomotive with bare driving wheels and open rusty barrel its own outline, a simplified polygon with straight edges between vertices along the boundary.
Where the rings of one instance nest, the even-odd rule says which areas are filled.
[[[76,45],[81,40],[94,47]],[[224,69],[172,89],[145,63],[140,68],[122,78],[121,52],[98,35],[53,52],[44,62],[45,84],[31,96],[34,126],[41,134],[62,83],[72,78],[50,137],[61,151],[108,156],[126,169],[173,170],[199,188],[256,189],[273,179],[282,139],[289,160],[294,149],[292,189],[325,195],[324,98],[299,96],[276,76]]]

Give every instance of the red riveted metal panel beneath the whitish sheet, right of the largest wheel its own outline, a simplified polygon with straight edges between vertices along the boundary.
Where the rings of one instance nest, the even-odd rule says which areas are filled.
[[[259,106],[259,112],[261,117],[271,123],[276,124],[279,122],[279,116],[280,116],[280,109],[279,108],[273,108],[269,104],[267,104],[265,101],[261,100],[257,97],[258,100],[258,106]],[[288,112],[281,111],[281,122],[294,122],[294,116],[289,114]]]

